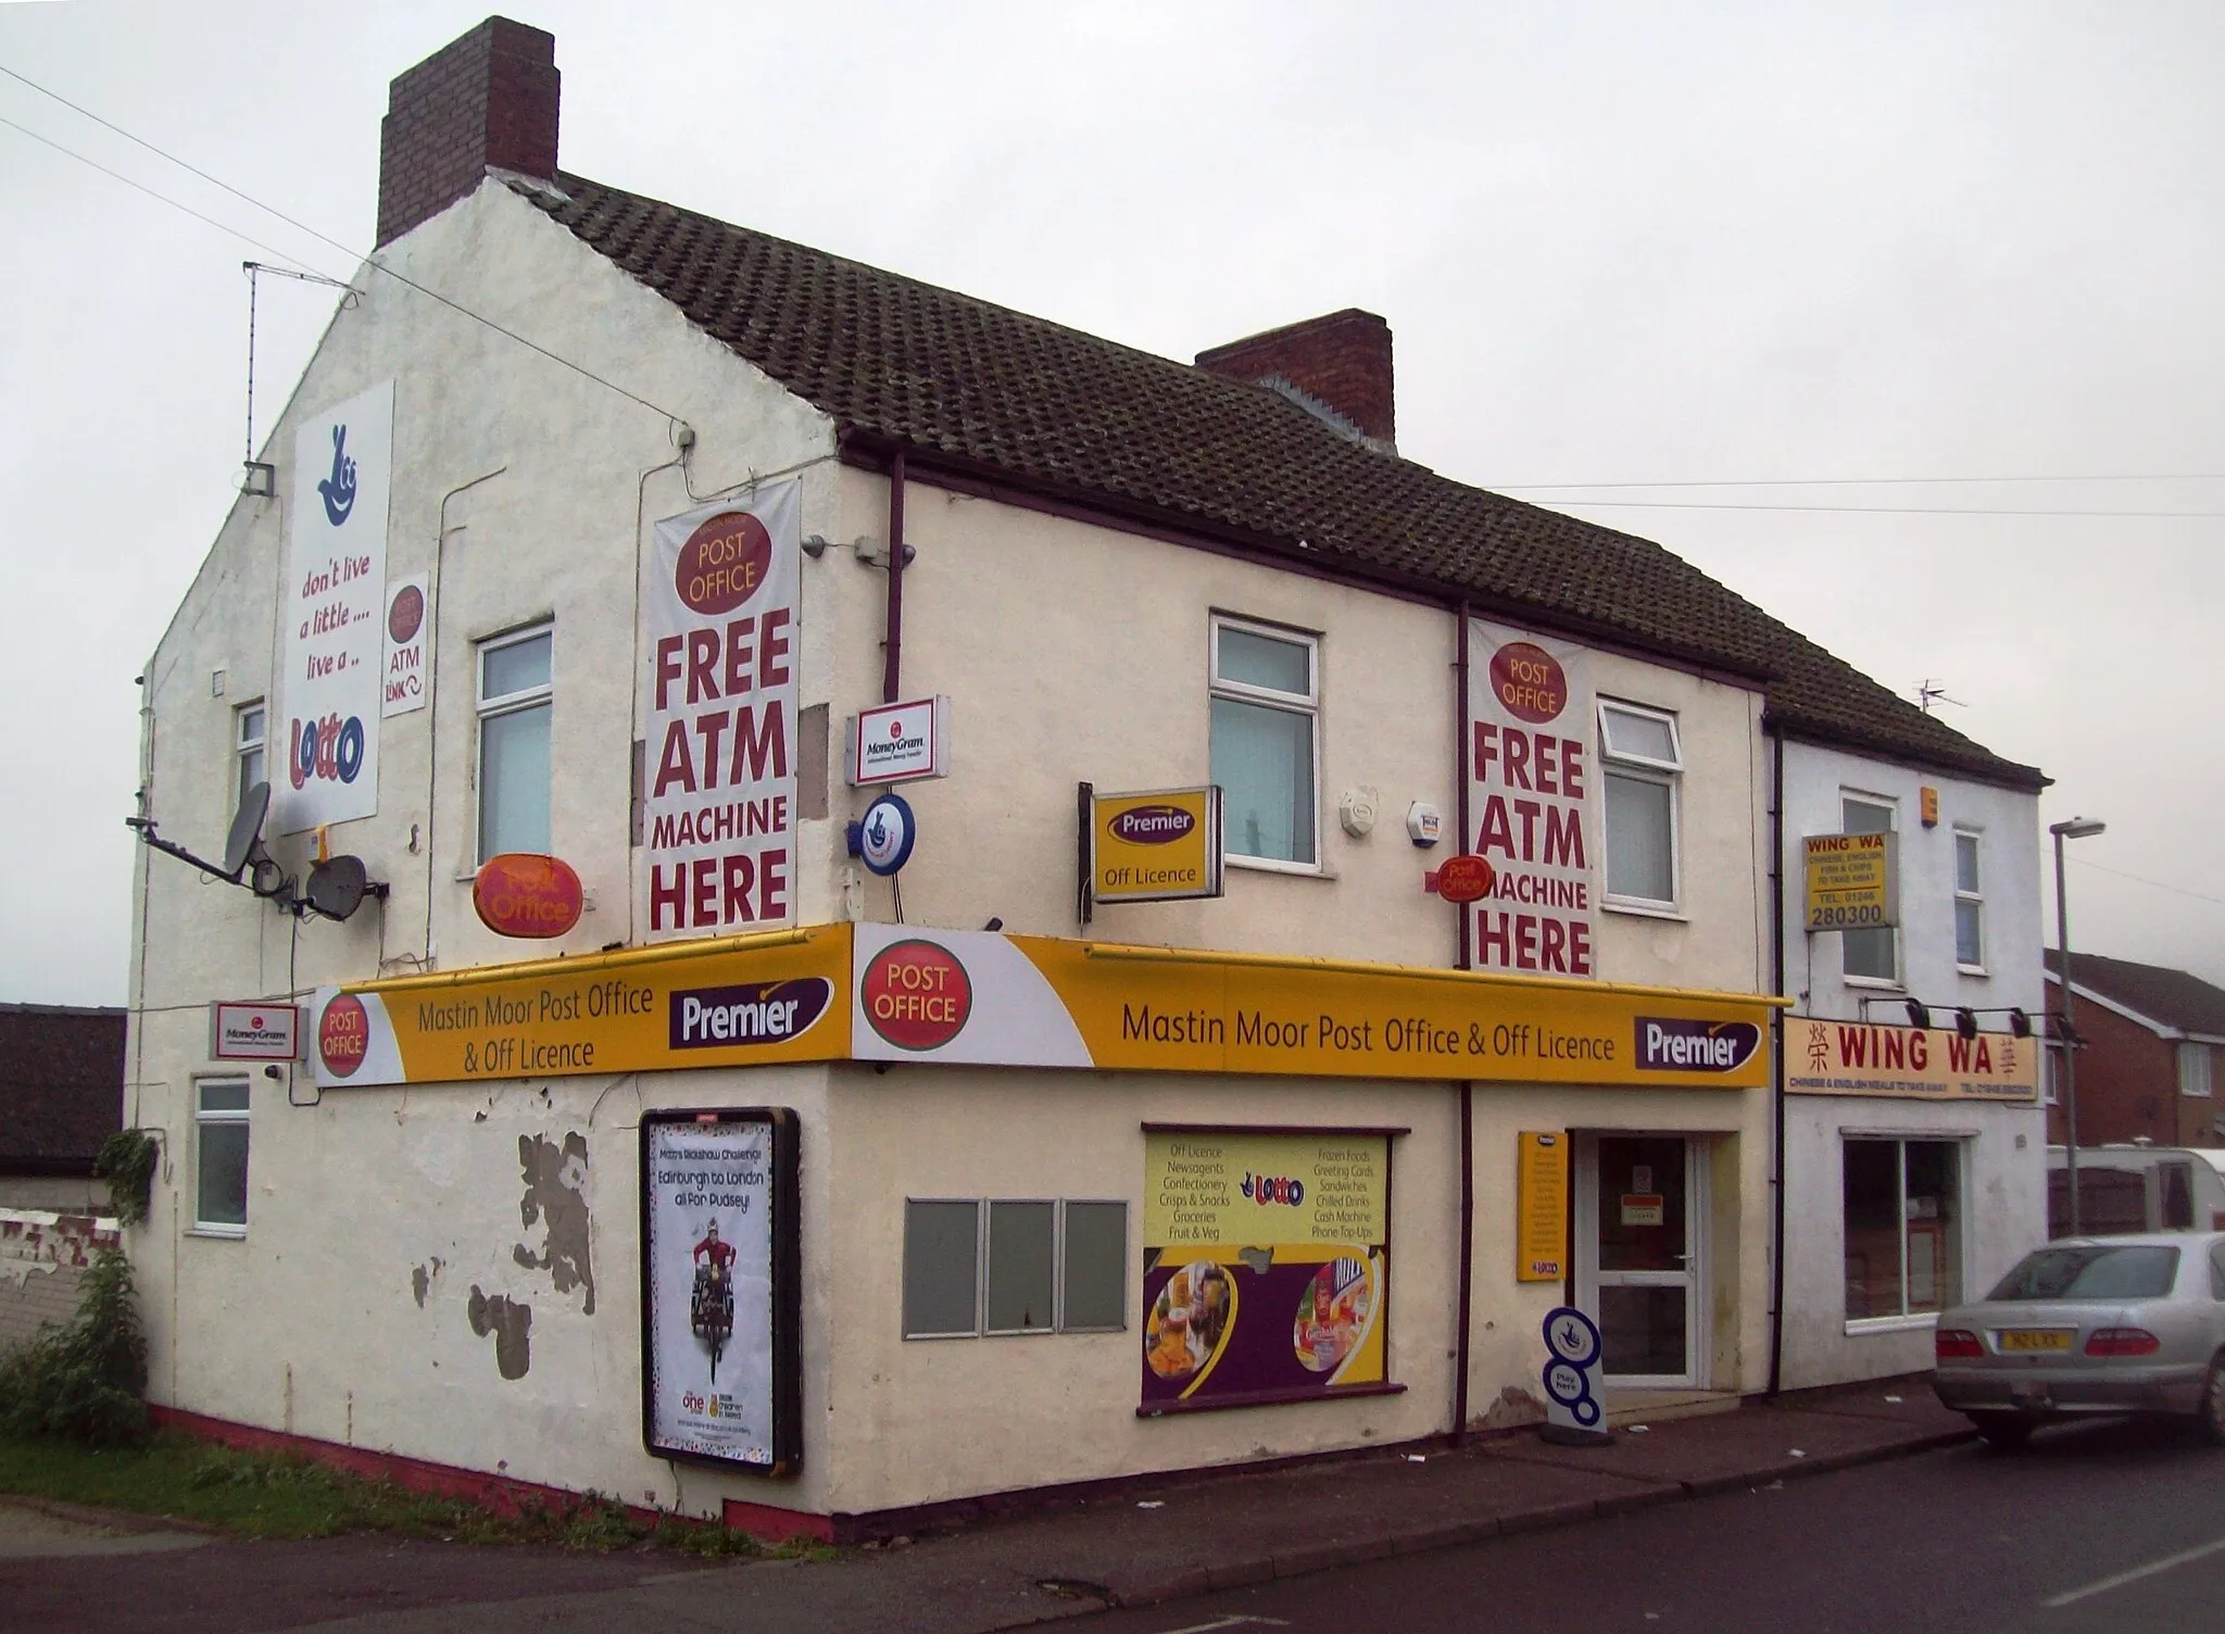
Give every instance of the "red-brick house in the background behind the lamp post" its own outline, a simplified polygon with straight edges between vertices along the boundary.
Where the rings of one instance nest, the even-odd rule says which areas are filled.
[[[2047,951],[2049,1008],[2063,1008],[2063,955]],[[2225,1146],[2225,988],[2187,971],[2071,953],[2078,1142]],[[2049,1051],[2047,1140],[2063,1142],[2060,1073]]]

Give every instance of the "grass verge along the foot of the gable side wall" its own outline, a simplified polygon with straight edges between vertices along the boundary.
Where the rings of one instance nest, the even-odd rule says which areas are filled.
[[[788,1556],[721,1525],[659,1516],[583,1494],[563,1505],[527,1503],[498,1514],[463,1498],[434,1498],[389,1480],[365,1480],[307,1458],[234,1451],[167,1429],[147,1447],[96,1451],[78,1443],[0,1436],[0,1492],[198,1520],[249,1538],[332,1538],[392,1532],[456,1543],[550,1543],[567,1549],[639,1545],[710,1556]]]

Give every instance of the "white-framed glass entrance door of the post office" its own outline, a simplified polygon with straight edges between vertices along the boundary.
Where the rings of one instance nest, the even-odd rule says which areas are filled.
[[[1593,1135],[1580,1287],[1615,1385],[1698,1385],[1700,1251],[1707,1218],[1695,1144],[1682,1135]]]

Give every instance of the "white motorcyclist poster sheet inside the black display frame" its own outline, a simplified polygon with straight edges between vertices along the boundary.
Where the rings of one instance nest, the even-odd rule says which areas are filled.
[[[659,1456],[774,1463],[774,1129],[643,1122],[647,1443]],[[696,1300],[723,1264],[732,1327]],[[710,1307],[710,1309],[705,1309]]]

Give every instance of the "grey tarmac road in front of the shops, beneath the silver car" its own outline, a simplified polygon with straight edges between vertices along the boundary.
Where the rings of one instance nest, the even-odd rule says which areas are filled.
[[[2225,1449],[2040,1431],[1555,1532],[1106,1612],[1072,1634],[2225,1630]]]

